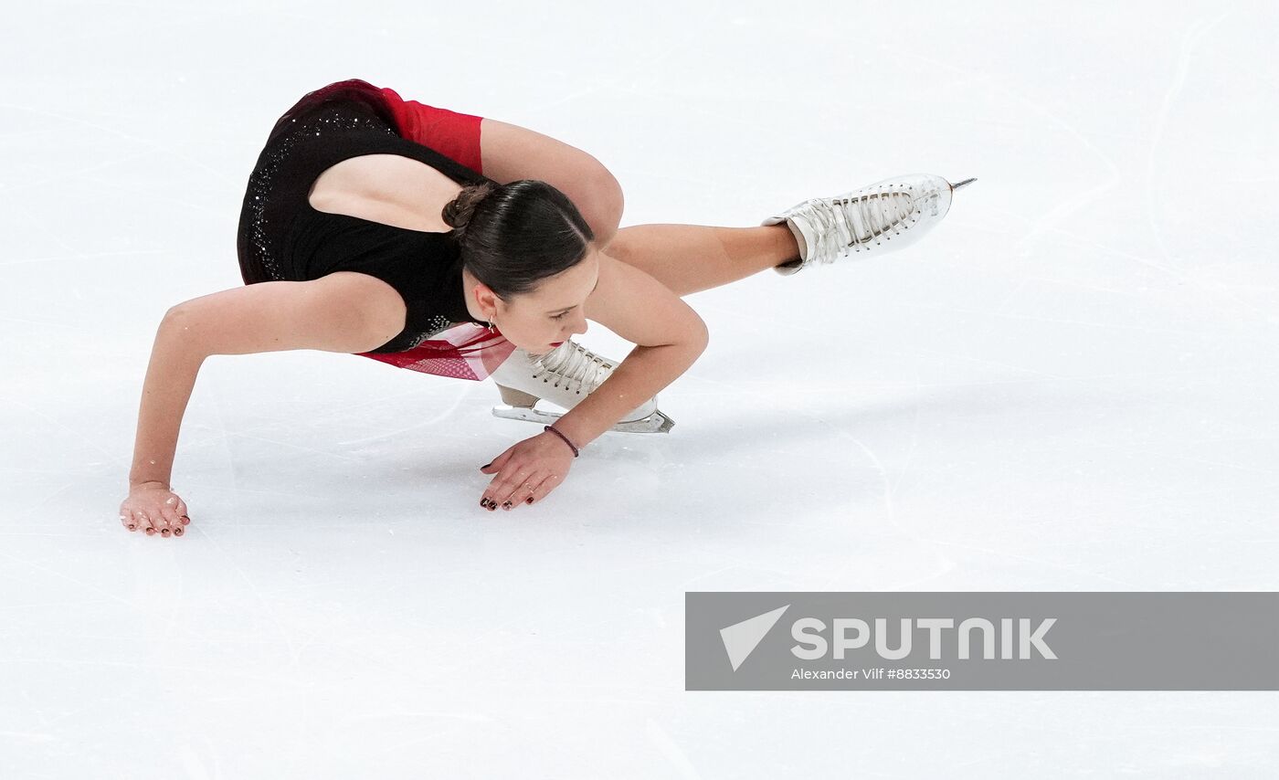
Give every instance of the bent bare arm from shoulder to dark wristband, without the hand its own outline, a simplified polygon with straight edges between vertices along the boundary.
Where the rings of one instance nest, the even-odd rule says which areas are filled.
[[[636,348],[555,423],[578,448],[688,371],[710,339],[706,322],[679,295],[606,254],[600,254],[600,285],[586,299],[585,313]]]

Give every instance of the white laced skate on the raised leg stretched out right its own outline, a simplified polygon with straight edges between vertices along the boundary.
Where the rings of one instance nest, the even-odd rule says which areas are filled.
[[[773,270],[789,276],[840,257],[872,257],[907,247],[940,222],[950,210],[952,193],[972,182],[950,184],[941,176],[909,174],[792,206],[760,222],[785,222],[799,243],[799,260]]]

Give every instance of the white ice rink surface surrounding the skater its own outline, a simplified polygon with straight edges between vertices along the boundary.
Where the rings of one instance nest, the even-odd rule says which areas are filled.
[[[1273,777],[1264,692],[686,692],[686,591],[1274,591],[1273,3],[63,1],[0,26],[0,777]],[[468,382],[210,358],[130,533],[164,312],[242,284],[275,119],[362,78],[602,161],[622,224],[907,173],[917,244],[711,343],[535,506]],[[697,262],[689,257],[688,262]],[[618,357],[602,326],[578,340]]]

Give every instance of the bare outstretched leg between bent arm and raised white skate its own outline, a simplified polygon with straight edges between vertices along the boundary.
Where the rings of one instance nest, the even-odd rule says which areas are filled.
[[[797,260],[799,244],[785,225],[632,225],[618,230],[604,252],[683,297]]]

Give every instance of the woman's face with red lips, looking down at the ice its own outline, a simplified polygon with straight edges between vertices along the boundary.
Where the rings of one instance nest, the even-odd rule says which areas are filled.
[[[586,332],[586,299],[600,281],[595,247],[576,266],[549,276],[532,292],[510,300],[494,298],[494,325],[515,347],[547,353],[573,334]]]

